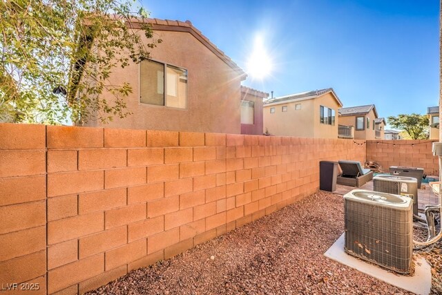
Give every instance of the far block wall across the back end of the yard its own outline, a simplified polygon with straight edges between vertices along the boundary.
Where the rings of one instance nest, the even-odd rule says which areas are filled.
[[[421,167],[427,175],[439,175],[439,160],[432,153],[437,140],[367,140],[367,160],[382,165]]]

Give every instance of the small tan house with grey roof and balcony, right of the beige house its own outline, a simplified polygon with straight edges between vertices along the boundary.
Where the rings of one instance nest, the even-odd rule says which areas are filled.
[[[355,140],[374,140],[376,138],[376,119],[378,112],[374,104],[340,108],[338,122],[340,126],[352,126]]]

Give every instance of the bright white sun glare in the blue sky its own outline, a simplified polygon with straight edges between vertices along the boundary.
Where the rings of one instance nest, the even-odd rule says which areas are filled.
[[[253,51],[247,60],[247,73],[254,79],[264,79],[272,70],[272,61],[261,36],[257,36],[253,43]]]

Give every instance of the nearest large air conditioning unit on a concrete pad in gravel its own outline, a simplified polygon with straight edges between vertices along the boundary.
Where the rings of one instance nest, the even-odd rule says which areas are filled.
[[[345,251],[401,274],[412,269],[412,199],[354,189],[344,196]]]

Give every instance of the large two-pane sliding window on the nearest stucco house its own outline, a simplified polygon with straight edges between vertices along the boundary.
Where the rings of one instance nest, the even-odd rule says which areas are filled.
[[[165,77],[164,73],[166,73]],[[140,64],[140,102],[171,108],[186,108],[187,70],[157,61],[142,61]]]

